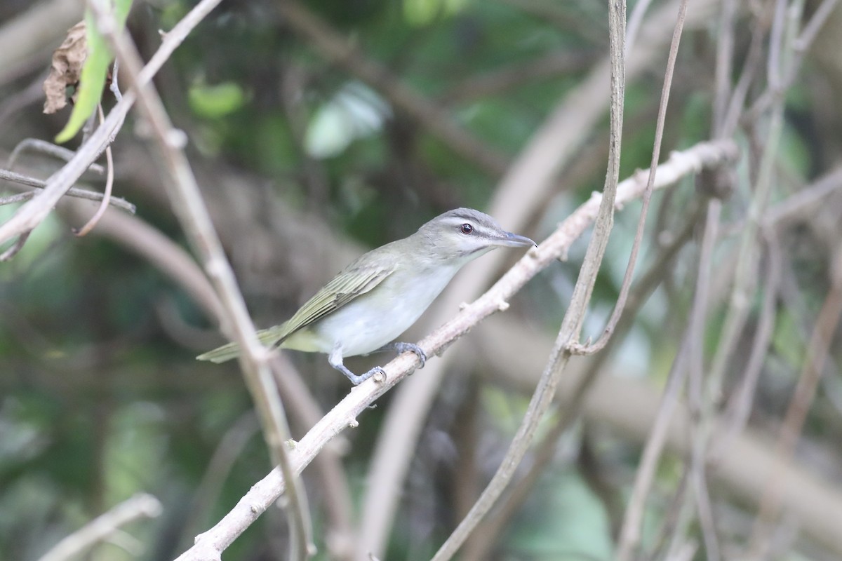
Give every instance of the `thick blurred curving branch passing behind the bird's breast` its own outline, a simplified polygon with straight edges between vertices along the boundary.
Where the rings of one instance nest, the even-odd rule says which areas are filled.
[[[696,0],[685,26],[708,25],[718,3],[719,0]],[[647,18],[637,47],[626,60],[627,81],[640,76],[653,59],[663,56],[663,45],[669,41],[678,5],[677,1],[665,4]],[[569,165],[593,134],[594,127],[604,119],[609,102],[608,82],[606,57],[578,87],[559,101],[541,128],[532,135],[498,184],[489,214],[516,231],[524,230],[530,224],[531,218],[541,211],[542,202],[557,192],[558,172]],[[504,259],[500,252],[491,253],[473,264],[471,277],[452,284],[440,297],[435,304],[440,311],[430,315],[434,319],[429,325],[440,325],[448,319],[450,310],[482,294],[503,266]],[[440,363],[429,364],[424,376],[416,376],[404,384],[386,414],[371,461],[371,484],[365,495],[358,557],[366,552],[379,555],[385,547],[418,435],[449,363],[450,359],[445,357]]]

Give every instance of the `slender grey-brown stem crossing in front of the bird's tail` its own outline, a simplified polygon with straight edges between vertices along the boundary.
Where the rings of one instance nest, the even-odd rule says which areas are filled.
[[[155,89],[142,82],[141,58],[131,40],[125,33],[118,31],[112,13],[104,7],[102,0],[90,0],[89,5],[96,15],[100,33],[109,41],[115,51],[115,58],[119,59],[121,66],[125,68],[126,77],[136,93],[138,107],[148,119],[152,135],[162,152],[172,178],[169,194],[173,201],[173,209],[179,216],[191,244],[205,262],[205,270],[219,294],[225,310],[226,324],[223,324],[223,328],[232,331],[234,339],[242,348],[240,365],[246,385],[257,406],[272,460],[280,465],[287,480],[293,482],[286,493],[289,508],[285,510],[292,537],[290,558],[306,559],[315,553],[315,546],[312,545],[310,519],[306,514],[306,496],[300,480],[290,467],[286,451],[286,442],[290,440],[289,426],[267,363],[268,353],[258,342],[242,294],[237,288],[234,273],[226,260],[221,241],[216,235],[199,186],[184,155],[186,137],[184,132],[173,129]],[[127,97],[126,95],[124,99]]]

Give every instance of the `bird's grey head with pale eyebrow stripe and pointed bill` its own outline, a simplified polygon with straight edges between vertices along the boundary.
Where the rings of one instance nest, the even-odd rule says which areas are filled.
[[[488,214],[474,209],[453,209],[418,229],[429,253],[447,261],[468,262],[495,247],[529,247],[536,243],[504,230]]]

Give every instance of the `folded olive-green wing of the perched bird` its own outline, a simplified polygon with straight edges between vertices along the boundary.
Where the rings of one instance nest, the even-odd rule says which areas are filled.
[[[296,331],[321,320],[324,316],[338,310],[345,304],[369,292],[382,283],[395,269],[391,266],[363,266],[349,267],[339,273],[332,281],[324,285],[313,297],[306,301],[301,309],[283,325],[281,330],[275,331],[278,336],[275,344],[279,344],[286,337]],[[269,331],[269,330],[266,330]]]

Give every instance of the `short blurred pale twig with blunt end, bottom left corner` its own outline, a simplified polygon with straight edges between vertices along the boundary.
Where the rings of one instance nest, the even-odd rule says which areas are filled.
[[[67,561],[75,558],[94,543],[117,532],[121,526],[138,518],[155,518],[161,511],[161,502],[152,495],[135,495],[56,543],[39,561]]]

